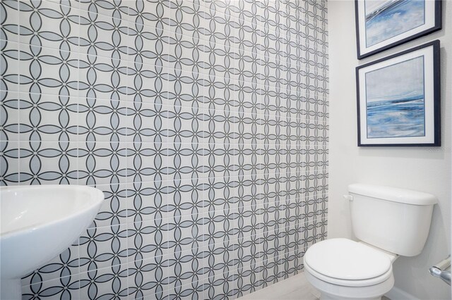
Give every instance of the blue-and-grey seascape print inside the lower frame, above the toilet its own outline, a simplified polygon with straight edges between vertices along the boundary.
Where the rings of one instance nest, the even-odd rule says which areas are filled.
[[[425,135],[424,56],[366,73],[367,138]]]

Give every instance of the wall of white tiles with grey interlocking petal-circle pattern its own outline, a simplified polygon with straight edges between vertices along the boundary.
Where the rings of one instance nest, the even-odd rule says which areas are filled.
[[[1,185],[106,197],[23,299],[234,299],[302,269],[326,237],[326,1],[0,9]]]

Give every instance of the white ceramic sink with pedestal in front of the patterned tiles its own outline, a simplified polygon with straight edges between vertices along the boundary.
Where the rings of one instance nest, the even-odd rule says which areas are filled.
[[[0,299],[21,299],[20,278],[71,246],[103,199],[77,185],[0,187]]]

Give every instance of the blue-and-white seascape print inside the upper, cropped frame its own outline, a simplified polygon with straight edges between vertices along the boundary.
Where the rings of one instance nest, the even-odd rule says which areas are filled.
[[[367,47],[424,25],[424,0],[365,0]]]

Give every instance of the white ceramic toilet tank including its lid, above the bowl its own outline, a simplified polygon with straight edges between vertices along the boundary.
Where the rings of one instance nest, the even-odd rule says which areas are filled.
[[[424,248],[436,197],[378,185],[348,186],[352,230],[367,244],[401,256]]]

